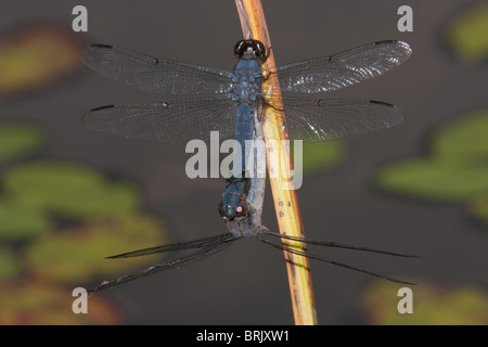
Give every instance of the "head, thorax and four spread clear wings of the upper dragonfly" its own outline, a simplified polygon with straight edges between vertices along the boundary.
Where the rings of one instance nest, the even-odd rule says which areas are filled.
[[[219,131],[221,139],[240,141],[236,121],[246,120],[236,119],[236,115],[246,107],[272,107],[278,98],[282,98],[291,139],[331,140],[388,128],[402,120],[399,108],[388,103],[304,94],[336,90],[384,74],[411,55],[404,42],[380,41],[269,70],[260,67],[268,56],[261,42],[241,40],[234,53],[239,62],[230,73],[112,46],[89,46],[81,56],[87,66],[164,97],[159,102],[97,107],[85,114],[84,123],[98,130],[169,144],[208,140],[210,131]],[[272,88],[261,91],[270,73],[278,74],[282,95]]]

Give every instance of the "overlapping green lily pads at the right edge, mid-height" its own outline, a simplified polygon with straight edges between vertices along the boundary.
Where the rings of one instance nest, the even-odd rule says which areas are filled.
[[[488,111],[460,117],[434,131],[428,155],[381,168],[375,184],[396,194],[464,203],[488,194]]]

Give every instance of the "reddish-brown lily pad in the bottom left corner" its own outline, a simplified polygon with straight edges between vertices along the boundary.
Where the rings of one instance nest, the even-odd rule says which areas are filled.
[[[88,314],[75,314],[70,288],[39,281],[0,283],[0,325],[120,324],[119,310],[101,295],[88,299]]]

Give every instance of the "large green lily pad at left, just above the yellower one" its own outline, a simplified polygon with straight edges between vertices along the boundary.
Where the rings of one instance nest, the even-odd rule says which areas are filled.
[[[86,219],[139,206],[129,182],[111,182],[94,169],[63,162],[35,162],[5,172],[4,190],[18,205],[65,218]]]

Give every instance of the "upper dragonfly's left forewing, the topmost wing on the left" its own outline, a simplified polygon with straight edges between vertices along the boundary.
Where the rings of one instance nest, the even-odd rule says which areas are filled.
[[[167,94],[222,93],[232,83],[232,74],[219,68],[155,59],[105,44],[86,47],[81,61],[116,81]]]

